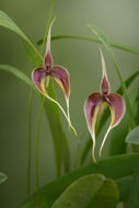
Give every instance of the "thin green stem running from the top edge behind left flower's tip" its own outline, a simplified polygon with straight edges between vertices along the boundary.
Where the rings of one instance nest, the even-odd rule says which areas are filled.
[[[49,24],[50,24],[51,16],[53,16],[54,4],[55,4],[55,0],[51,0],[50,10],[49,10],[49,14],[48,14],[48,21],[47,21],[47,25],[46,25],[46,30],[45,30],[45,35],[44,35],[44,39],[43,39],[43,45],[42,45],[42,48],[40,48],[40,55],[43,55],[44,49],[45,49],[45,44],[46,44],[46,39],[47,39],[47,34],[48,34],[48,30],[49,30]]]

